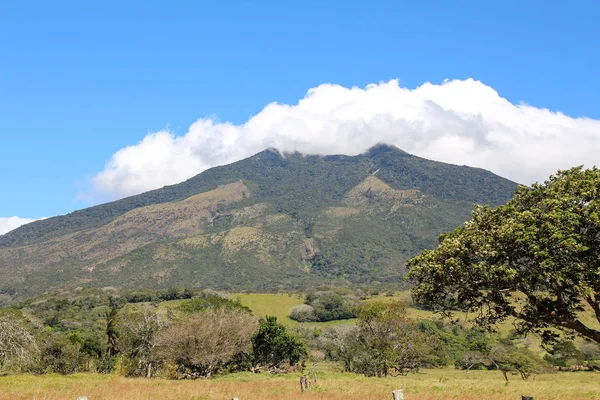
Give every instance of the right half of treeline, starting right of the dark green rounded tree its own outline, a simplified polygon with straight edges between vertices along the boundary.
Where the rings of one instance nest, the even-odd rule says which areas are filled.
[[[519,338],[497,339],[460,325],[411,320],[402,302],[370,301],[356,312],[355,326],[305,330],[301,337],[320,352],[321,358],[339,361],[346,371],[366,376],[406,375],[421,368],[454,365],[467,373],[472,369],[498,370],[506,380],[509,372],[526,380],[532,374],[552,371],[555,365],[549,362],[554,356],[541,358],[532,343]],[[582,346],[578,360],[560,350],[565,346],[575,347],[572,342],[559,342],[549,349],[550,354],[566,363],[585,360],[589,369],[600,366],[597,346]]]

